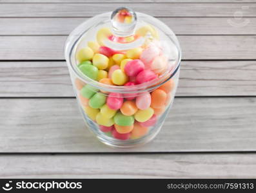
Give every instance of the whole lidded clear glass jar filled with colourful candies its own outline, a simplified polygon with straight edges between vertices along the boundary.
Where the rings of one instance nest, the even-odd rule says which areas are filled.
[[[101,142],[134,147],[159,133],[181,62],[179,42],[168,26],[118,8],[75,28],[65,58],[84,121]]]

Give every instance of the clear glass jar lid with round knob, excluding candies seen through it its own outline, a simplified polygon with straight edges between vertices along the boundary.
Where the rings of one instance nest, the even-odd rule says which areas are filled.
[[[138,47],[144,50],[151,48],[150,57],[154,57],[160,50],[162,59],[167,63],[163,70],[159,67],[161,65],[155,62],[153,67],[159,75],[149,82],[135,86],[106,85],[86,77],[77,68],[79,61],[75,55],[88,41],[97,41],[100,46],[123,53]],[[144,60],[147,61],[150,57],[144,57]],[[112,13],[96,15],[75,28],[66,40],[65,59],[77,77],[97,89],[117,93],[139,93],[155,89],[175,75],[181,62],[181,48],[175,33],[166,24],[150,15],[121,7]]]

